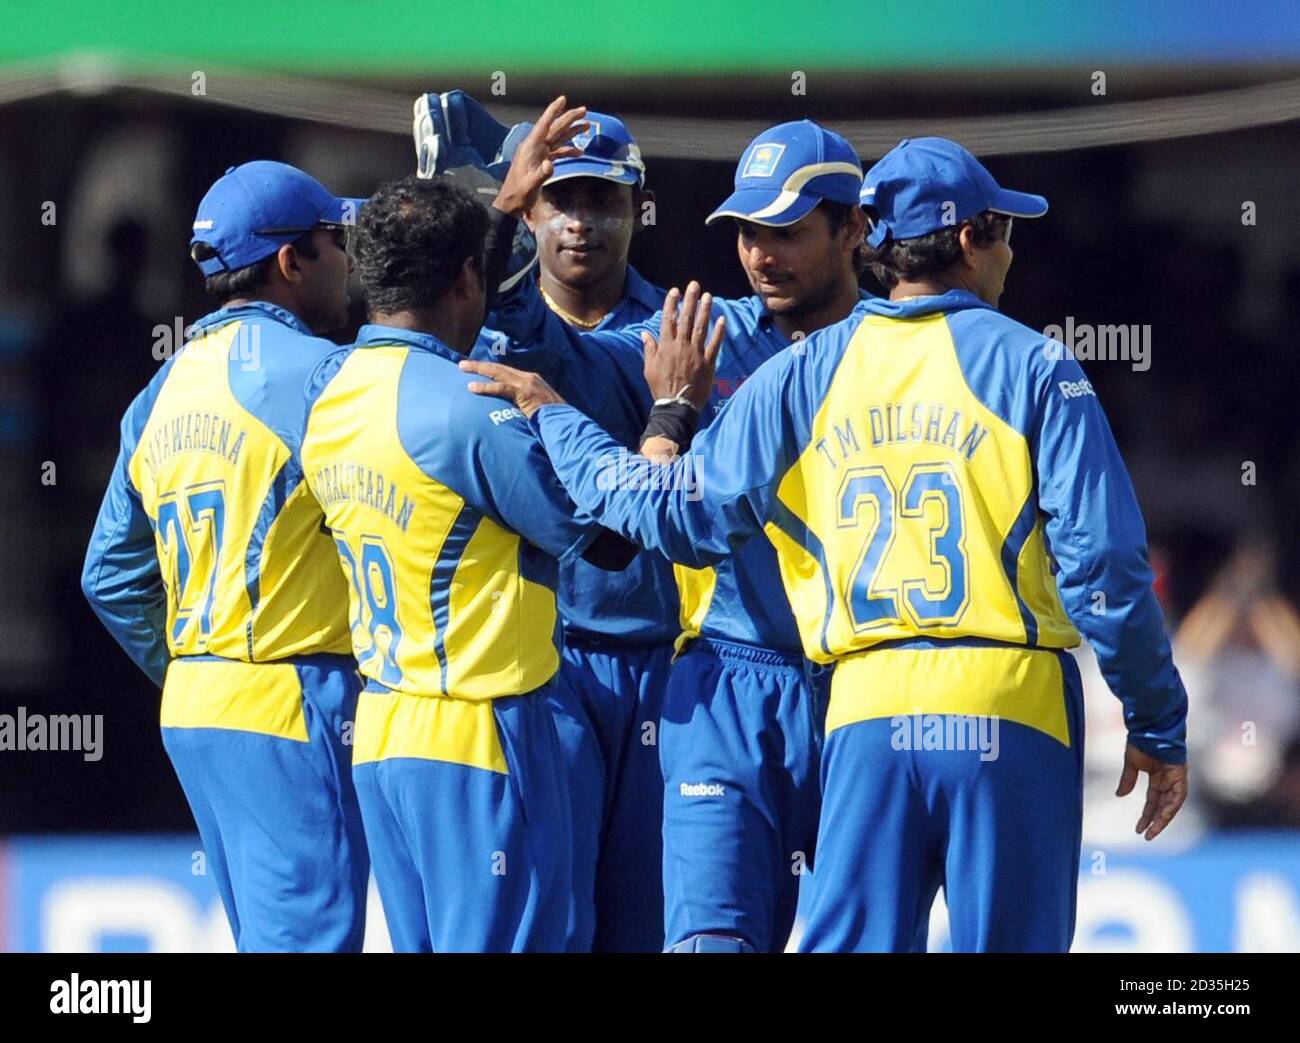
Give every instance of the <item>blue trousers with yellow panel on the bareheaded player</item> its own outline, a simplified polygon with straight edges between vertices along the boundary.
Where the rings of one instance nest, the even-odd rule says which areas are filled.
[[[477,704],[368,689],[356,761],[395,951],[564,949],[572,828],[545,689]]]

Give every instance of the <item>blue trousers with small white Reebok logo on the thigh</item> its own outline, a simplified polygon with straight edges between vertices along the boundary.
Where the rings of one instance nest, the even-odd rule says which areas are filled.
[[[802,657],[733,641],[697,639],[673,665],[660,730],[668,948],[725,935],[784,949],[818,843],[822,691]]]

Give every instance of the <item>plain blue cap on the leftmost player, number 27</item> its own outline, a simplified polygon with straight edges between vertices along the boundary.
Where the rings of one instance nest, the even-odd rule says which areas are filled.
[[[199,202],[190,246],[207,243],[217,256],[195,264],[205,276],[247,268],[318,225],[356,224],[364,202],[330,195],[287,163],[231,166]]]

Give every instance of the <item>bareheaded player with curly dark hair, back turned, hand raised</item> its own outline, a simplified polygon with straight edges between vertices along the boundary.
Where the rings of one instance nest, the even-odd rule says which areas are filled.
[[[498,209],[525,209],[568,153],[547,146],[556,104],[520,146]],[[555,121],[555,142],[580,114]],[[571,812],[547,706],[559,563],[620,568],[634,553],[576,516],[516,410],[465,390],[455,363],[484,323],[488,220],[445,181],[380,189],[356,247],[370,324],[308,391],[304,468],[368,679],[356,788],[407,952],[566,947]]]

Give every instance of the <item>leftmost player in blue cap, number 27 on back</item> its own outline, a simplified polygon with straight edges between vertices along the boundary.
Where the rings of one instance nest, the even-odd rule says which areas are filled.
[[[191,256],[220,306],[122,419],[82,589],[162,688],[162,743],[235,943],[360,951],[369,862],[351,780],[347,589],[303,482],[303,382],[347,321],[363,200],[229,169]]]

